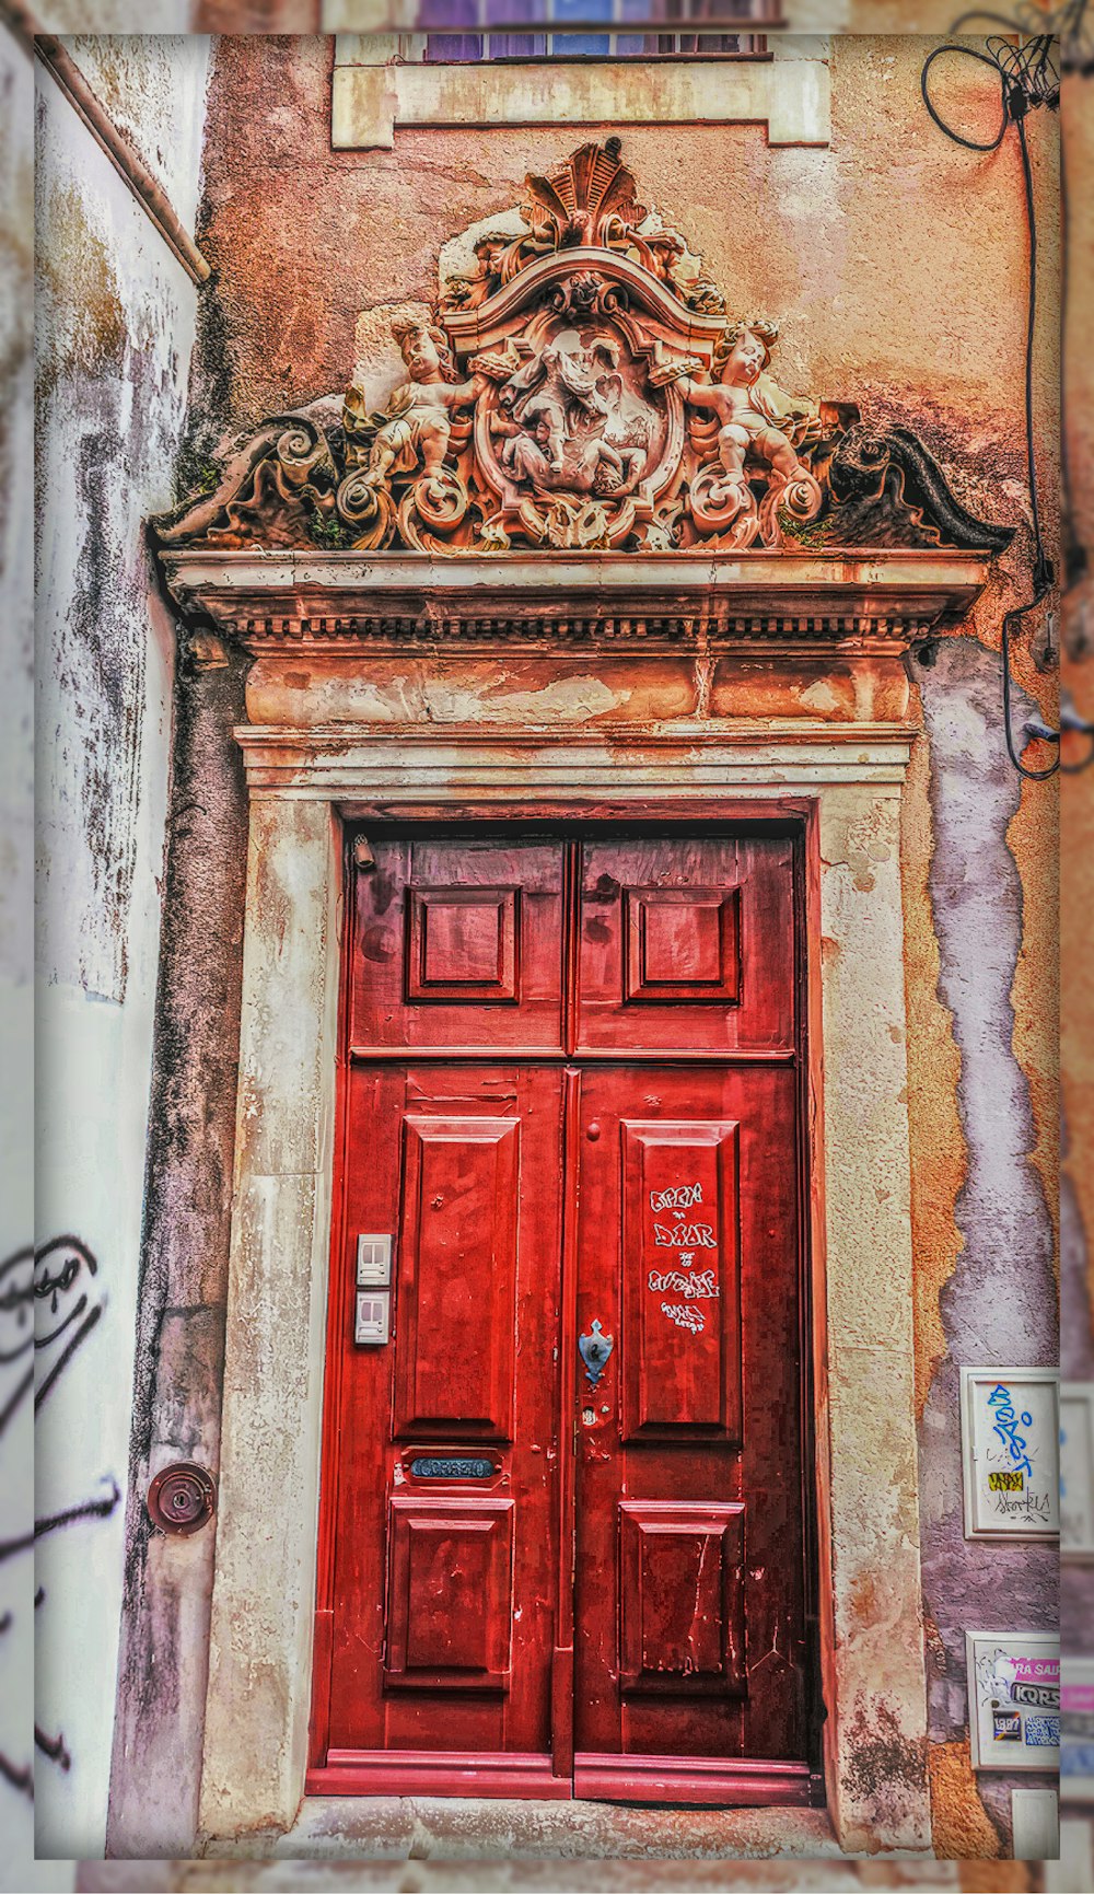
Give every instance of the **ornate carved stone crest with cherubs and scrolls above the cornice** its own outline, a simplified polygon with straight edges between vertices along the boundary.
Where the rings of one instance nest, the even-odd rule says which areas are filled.
[[[725,297],[636,199],[619,138],[528,176],[430,318],[392,326],[405,379],[267,422],[161,544],[380,553],[672,553],[977,545],[910,430],[787,392],[778,326]]]

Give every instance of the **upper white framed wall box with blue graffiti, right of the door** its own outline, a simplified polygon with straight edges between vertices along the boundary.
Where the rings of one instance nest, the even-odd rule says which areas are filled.
[[[1060,1532],[1060,1375],[962,1367],[965,1538]]]

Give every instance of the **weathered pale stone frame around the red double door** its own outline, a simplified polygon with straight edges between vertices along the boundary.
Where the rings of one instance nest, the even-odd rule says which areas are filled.
[[[303,1797],[343,818],[642,813],[700,822],[797,811],[806,831],[827,1809],[846,1852],[929,1850],[901,900],[912,735],[907,725],[804,722],[768,741],[725,725],[678,725],[670,737],[237,731],[250,849],[199,1816],[206,1845],[286,1831]]]

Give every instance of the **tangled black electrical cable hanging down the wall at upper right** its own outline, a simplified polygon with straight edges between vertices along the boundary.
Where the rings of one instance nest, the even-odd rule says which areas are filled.
[[[963,13],[956,23],[956,28],[969,19],[986,19],[1001,15],[984,13]],[[1020,30],[1011,23],[1011,30]],[[931,91],[929,91],[929,72],[943,53],[956,53],[965,59],[975,59],[982,66],[992,66],[999,78],[999,104],[1001,119],[999,131],[988,142],[980,138],[965,138],[952,125],[946,125],[944,117],[937,110]],[[1011,123],[1018,127],[1018,150],[1022,153],[1022,195],[1026,208],[1026,233],[1030,242],[1030,269],[1028,269],[1028,295],[1026,295],[1026,481],[1030,487],[1030,525],[1033,532],[1033,597],[1020,606],[1013,606],[1003,616],[1001,633],[1001,659],[1003,659],[1003,731],[1007,737],[1007,756],[1018,771],[1030,782],[1045,782],[1054,777],[1062,767],[1060,756],[1052,759],[1045,769],[1032,769],[1022,761],[1015,748],[1015,731],[1011,724],[1011,638],[1015,627],[1022,623],[1028,612],[1033,612],[1041,600],[1050,593],[1056,574],[1052,561],[1045,553],[1045,538],[1041,532],[1041,504],[1037,491],[1037,456],[1033,449],[1033,339],[1037,324],[1037,210],[1033,205],[1033,167],[1030,163],[1030,142],[1026,138],[1026,114],[1035,106],[1047,104],[1054,108],[1060,102],[1060,74],[1054,66],[1054,42],[1050,34],[1037,34],[1024,45],[1013,45],[1007,40],[992,38],[988,40],[988,49],[980,51],[975,45],[937,45],[926,59],[924,70],[920,74],[920,89],[924,95],[924,104],[931,114],[939,131],[944,131],[946,138],[954,144],[965,148],[965,152],[997,152],[1007,136]],[[1050,742],[1060,742],[1060,731],[1050,731]]]

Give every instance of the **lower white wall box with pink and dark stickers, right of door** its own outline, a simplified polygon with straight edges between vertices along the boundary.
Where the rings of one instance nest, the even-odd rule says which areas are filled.
[[[973,1769],[1060,1763],[1060,1638],[1047,1631],[967,1631]]]

